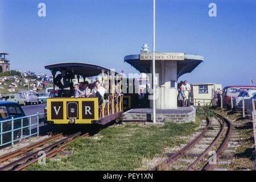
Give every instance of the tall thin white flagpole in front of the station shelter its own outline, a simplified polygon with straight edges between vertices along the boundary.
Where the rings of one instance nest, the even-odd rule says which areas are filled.
[[[153,0],[153,122],[155,123],[155,0]]]

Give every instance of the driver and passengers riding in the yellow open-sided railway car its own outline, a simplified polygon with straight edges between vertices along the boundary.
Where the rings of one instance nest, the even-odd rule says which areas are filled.
[[[58,97],[85,98],[98,97],[100,104],[107,102],[109,94],[112,94],[109,89],[109,82],[104,82],[104,87],[100,81],[95,81],[89,84],[88,81],[80,82],[73,85],[72,79],[75,78],[73,73],[67,73],[65,68],[60,68],[60,74],[56,76],[54,84],[59,87]],[[112,85],[114,97],[121,95],[115,84]]]

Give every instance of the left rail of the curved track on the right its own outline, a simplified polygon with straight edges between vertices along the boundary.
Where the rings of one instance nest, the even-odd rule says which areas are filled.
[[[191,142],[189,142],[185,147],[181,148],[178,152],[176,152],[174,155],[171,155],[168,159],[164,160],[163,163],[167,164],[168,166],[173,163],[175,160],[179,159],[181,156],[185,154],[191,147],[193,147],[202,137],[203,135],[207,132],[208,127],[211,125],[210,119],[207,117],[207,127],[205,127],[204,131],[202,131],[195,139],[193,139]],[[161,163],[161,164],[163,164]],[[160,164],[158,165],[160,166]],[[158,166],[154,167],[151,169],[151,171],[157,171]]]

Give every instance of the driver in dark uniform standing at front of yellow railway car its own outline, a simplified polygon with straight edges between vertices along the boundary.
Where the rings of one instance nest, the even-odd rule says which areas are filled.
[[[58,97],[70,97],[73,93],[73,82],[75,78],[74,73],[67,73],[67,69],[60,68],[60,74],[54,79],[54,84],[59,87]]]

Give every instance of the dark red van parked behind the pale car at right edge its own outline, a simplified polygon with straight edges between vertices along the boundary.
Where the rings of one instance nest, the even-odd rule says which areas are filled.
[[[222,92],[223,106],[230,109],[231,96],[235,98],[240,94],[240,92],[244,92],[247,90],[255,90],[255,89],[256,89],[256,86],[226,86]]]

